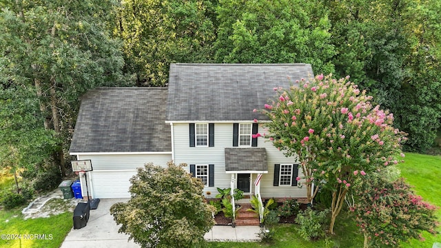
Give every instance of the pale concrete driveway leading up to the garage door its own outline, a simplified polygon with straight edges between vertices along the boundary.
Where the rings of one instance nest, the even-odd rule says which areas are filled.
[[[121,199],[101,199],[98,208],[90,210],[88,225],[81,229],[73,229],[66,236],[61,248],[111,248],[127,247],[139,248],[133,240],[127,242],[128,237],[125,234],[119,234],[119,226],[110,215],[110,207],[114,203],[126,202],[128,198]],[[73,221],[72,221],[73,226]]]

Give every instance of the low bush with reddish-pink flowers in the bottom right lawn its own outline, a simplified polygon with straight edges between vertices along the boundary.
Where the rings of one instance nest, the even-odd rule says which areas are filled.
[[[359,191],[358,200],[350,209],[365,235],[365,247],[369,243],[397,247],[401,240],[418,238],[419,231],[433,233],[437,225],[435,207],[413,194],[402,178],[393,183],[371,180]]]

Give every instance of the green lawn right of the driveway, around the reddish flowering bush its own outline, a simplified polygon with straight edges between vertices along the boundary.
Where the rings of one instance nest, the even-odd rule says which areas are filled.
[[[407,183],[414,186],[414,191],[429,203],[441,208],[441,156],[429,156],[422,154],[406,154],[404,163],[399,165],[401,176],[406,178]],[[437,211],[438,220],[441,222],[441,210]],[[275,241],[271,244],[263,242],[209,242],[211,248],[231,248],[231,247],[362,247],[363,236],[358,233],[356,225],[350,218],[340,214],[336,226],[336,235],[329,236],[324,240],[307,242],[300,238],[296,231],[296,225],[278,225],[276,227]],[[437,229],[441,232],[441,227]],[[441,242],[441,235],[434,236],[424,232],[421,240],[409,240],[403,242],[403,248],[427,248],[432,247],[434,242]]]

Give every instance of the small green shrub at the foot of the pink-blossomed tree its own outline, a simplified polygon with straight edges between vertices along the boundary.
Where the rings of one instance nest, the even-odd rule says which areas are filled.
[[[317,240],[325,236],[325,224],[329,209],[316,211],[307,208],[305,211],[299,211],[296,217],[298,223],[298,234],[305,240]]]

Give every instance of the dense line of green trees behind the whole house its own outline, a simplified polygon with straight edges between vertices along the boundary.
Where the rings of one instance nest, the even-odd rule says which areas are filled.
[[[80,96],[167,85],[170,63],[311,63],[389,109],[424,152],[441,120],[437,0],[0,1],[0,162],[60,167]]]

